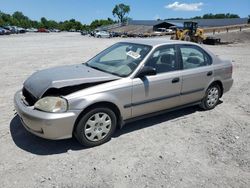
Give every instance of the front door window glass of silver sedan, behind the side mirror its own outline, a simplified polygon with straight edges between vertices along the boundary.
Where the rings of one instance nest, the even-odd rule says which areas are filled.
[[[163,46],[156,49],[145,65],[155,68],[157,73],[178,70],[175,47]]]

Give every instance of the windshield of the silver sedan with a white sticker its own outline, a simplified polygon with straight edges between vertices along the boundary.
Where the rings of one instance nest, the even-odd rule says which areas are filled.
[[[151,50],[150,46],[117,43],[89,60],[86,65],[120,77],[130,75]]]

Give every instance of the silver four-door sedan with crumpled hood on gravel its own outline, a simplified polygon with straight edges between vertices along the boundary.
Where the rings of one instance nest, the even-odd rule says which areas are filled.
[[[233,84],[232,63],[181,41],[119,42],[88,62],[35,72],[14,97],[23,126],[47,139],[108,141],[138,118],[199,105],[213,109]]]

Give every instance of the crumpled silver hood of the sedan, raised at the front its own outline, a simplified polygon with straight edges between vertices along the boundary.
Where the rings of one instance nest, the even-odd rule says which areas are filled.
[[[24,82],[24,87],[34,97],[40,98],[49,88],[62,88],[117,79],[119,79],[118,76],[79,64],[35,72]]]

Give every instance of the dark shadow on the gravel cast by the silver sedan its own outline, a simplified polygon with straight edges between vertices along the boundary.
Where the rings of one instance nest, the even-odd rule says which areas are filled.
[[[222,101],[220,101],[219,104],[221,103]],[[127,123],[122,129],[118,129],[115,132],[113,138],[117,138],[133,131],[151,127],[162,122],[178,119],[182,116],[189,115],[197,111],[201,111],[200,108],[198,106],[192,106]],[[22,126],[22,123],[17,115],[10,122],[10,133],[16,146],[36,155],[53,155],[66,153],[69,150],[76,151],[88,149],[80,145],[75,138],[65,140],[47,140],[37,137],[29,133]]]

